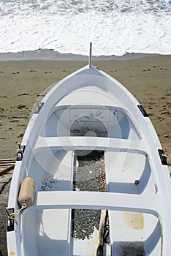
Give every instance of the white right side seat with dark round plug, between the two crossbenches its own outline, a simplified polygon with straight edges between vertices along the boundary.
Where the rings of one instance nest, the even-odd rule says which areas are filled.
[[[156,181],[147,156],[106,151],[104,162],[108,192],[156,194],[154,185]]]

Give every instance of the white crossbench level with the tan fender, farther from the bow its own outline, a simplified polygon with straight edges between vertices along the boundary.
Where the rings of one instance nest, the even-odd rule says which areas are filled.
[[[126,195],[104,192],[47,191],[36,192],[33,206],[42,208],[91,208],[115,211],[138,211],[159,217],[159,196]],[[153,203],[151,203],[153,202]]]

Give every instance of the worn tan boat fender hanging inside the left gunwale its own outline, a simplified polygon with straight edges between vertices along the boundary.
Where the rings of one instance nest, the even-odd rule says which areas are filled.
[[[33,178],[28,176],[24,178],[20,186],[20,191],[18,194],[19,206],[22,207],[23,204],[26,204],[26,207],[31,206],[34,201],[34,193],[35,193],[35,181]]]

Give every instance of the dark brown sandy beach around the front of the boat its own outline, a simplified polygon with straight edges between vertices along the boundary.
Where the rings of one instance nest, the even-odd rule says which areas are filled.
[[[14,158],[31,109],[53,83],[88,64],[81,60],[0,61],[0,159]],[[100,59],[93,64],[123,84],[144,106],[171,165],[171,56]],[[7,255],[5,207],[12,171],[0,178],[0,256]]]

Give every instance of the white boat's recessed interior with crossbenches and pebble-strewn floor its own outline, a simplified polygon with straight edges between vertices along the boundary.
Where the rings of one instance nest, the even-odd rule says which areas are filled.
[[[158,185],[139,128],[118,106],[54,106],[28,166],[36,195],[23,255],[96,255],[102,210],[104,255],[160,255],[161,223],[145,201]]]

